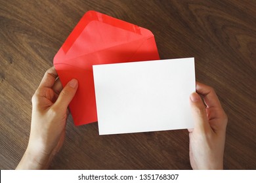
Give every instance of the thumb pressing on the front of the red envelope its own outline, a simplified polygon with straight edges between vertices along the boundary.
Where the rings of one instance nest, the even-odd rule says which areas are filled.
[[[63,90],[60,92],[60,95],[58,95],[58,99],[54,103],[58,108],[63,108],[66,110],[68,108],[68,105],[72,101],[73,97],[75,96],[75,92],[78,88],[78,82],[76,79],[70,80],[68,84],[63,88]]]

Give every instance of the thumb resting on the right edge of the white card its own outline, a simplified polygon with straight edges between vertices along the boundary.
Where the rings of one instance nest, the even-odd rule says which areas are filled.
[[[190,106],[192,109],[192,116],[194,118],[194,129],[208,131],[210,126],[207,119],[205,105],[198,93],[194,92],[190,95]]]

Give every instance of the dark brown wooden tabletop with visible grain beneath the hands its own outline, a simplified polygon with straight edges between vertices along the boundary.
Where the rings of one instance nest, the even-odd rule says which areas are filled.
[[[150,29],[161,59],[196,59],[229,122],[224,169],[256,169],[256,1],[0,1],[0,169],[14,169],[28,144],[31,97],[87,10]],[[98,135],[75,127],[50,169],[191,169],[188,131]]]

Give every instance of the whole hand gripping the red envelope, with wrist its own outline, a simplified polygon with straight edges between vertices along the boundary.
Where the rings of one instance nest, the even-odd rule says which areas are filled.
[[[51,67],[32,97],[32,122],[28,148],[16,169],[47,169],[64,142],[68,105],[78,87],[72,79],[62,90]],[[56,79],[57,78],[57,79]]]

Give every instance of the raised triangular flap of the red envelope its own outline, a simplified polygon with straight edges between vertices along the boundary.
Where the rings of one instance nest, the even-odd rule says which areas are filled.
[[[118,46],[154,35],[137,25],[95,11],[87,12],[62,45],[54,63]]]

